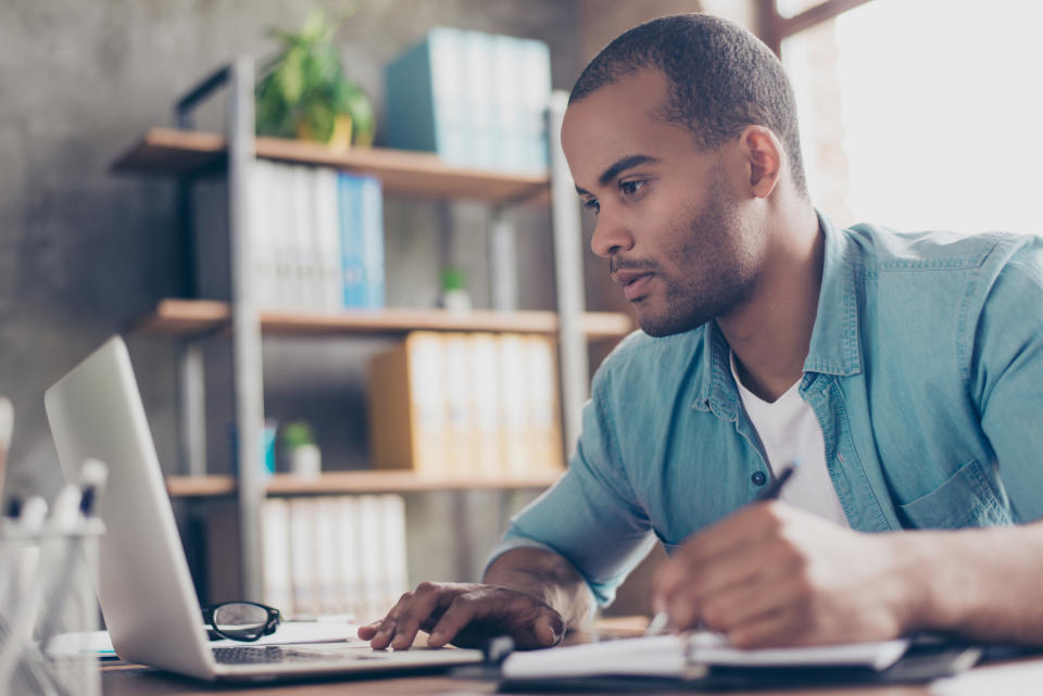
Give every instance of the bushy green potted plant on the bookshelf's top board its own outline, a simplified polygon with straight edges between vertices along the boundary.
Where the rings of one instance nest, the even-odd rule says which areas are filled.
[[[282,47],[261,69],[257,135],[315,140],[337,149],[347,149],[352,142],[373,144],[373,105],[344,76],[334,42],[338,24],[316,8],[300,31],[269,30]]]

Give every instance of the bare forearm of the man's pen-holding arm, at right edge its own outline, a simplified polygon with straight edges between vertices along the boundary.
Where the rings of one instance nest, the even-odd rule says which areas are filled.
[[[1043,523],[896,535],[910,629],[1043,644]]]

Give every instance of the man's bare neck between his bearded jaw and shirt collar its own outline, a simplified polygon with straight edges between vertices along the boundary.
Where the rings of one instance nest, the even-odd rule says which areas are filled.
[[[822,283],[825,238],[809,205],[777,223],[774,249],[750,300],[717,325],[736,354],[743,385],[767,402],[804,370]]]

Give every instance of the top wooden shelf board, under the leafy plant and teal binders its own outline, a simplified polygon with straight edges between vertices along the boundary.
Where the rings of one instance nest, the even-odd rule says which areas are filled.
[[[384,148],[337,151],[326,145],[257,138],[259,157],[317,164],[378,177],[387,193],[423,198],[464,198],[491,202],[549,200],[550,175],[510,174],[451,166],[437,155]],[[121,173],[188,176],[224,166],[225,138],[218,134],[152,128],[117,159]]]

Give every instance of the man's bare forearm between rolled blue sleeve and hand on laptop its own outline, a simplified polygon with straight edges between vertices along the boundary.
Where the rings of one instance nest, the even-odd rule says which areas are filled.
[[[564,557],[542,548],[504,553],[482,582],[537,597],[561,613],[569,629],[578,629],[590,616],[590,591],[582,577]]]

